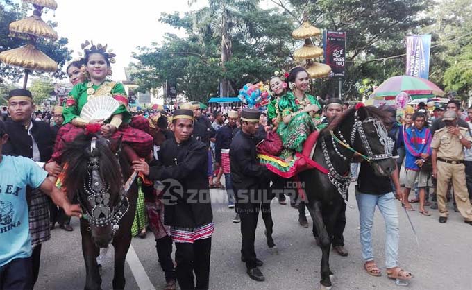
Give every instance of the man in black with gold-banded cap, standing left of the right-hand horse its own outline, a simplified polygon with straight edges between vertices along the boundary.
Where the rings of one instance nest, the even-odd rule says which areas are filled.
[[[236,210],[241,217],[242,247],[241,259],[246,262],[251,279],[264,281],[258,267],[264,263],[257,259],[254,250],[255,229],[264,199],[269,188],[269,171],[260,165],[255,153],[255,133],[259,126],[259,110],[244,108],[241,114],[241,130],[230,146],[230,169],[236,196]]]

